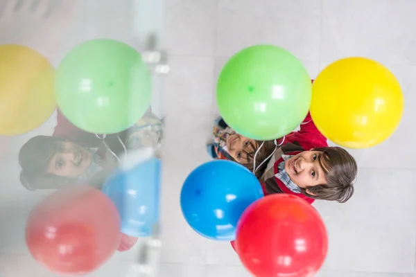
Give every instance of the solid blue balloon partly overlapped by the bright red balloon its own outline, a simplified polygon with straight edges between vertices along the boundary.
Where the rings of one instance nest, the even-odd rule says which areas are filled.
[[[263,196],[259,181],[247,168],[216,160],[191,172],[182,187],[180,204],[193,230],[211,240],[231,241],[245,208]]]

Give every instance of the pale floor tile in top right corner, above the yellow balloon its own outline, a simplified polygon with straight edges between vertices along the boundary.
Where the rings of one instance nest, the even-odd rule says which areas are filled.
[[[320,60],[360,55],[415,64],[415,12],[412,0],[322,0]]]

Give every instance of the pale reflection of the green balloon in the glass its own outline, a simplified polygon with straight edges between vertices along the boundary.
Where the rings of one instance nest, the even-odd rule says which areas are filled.
[[[87,132],[112,134],[134,125],[151,100],[151,75],[141,55],[112,39],[73,48],[58,66],[58,107]]]

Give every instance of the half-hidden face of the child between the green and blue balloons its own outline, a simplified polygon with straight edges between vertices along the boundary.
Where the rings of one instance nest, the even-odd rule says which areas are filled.
[[[247,153],[255,151],[256,141],[248,139],[241,134],[232,134],[227,137],[229,155],[238,163],[247,163]]]

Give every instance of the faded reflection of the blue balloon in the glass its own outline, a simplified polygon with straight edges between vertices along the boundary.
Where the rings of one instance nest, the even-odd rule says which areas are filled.
[[[111,175],[102,188],[121,217],[121,233],[145,237],[159,222],[161,161],[151,158],[127,171]]]

